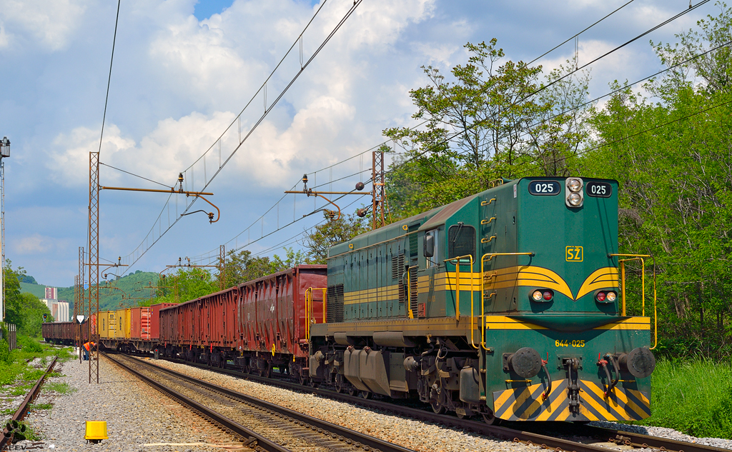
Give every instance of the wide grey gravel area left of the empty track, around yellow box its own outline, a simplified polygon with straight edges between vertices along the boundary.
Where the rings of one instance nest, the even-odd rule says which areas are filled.
[[[100,364],[99,385],[87,383],[86,361],[57,364],[56,370],[64,377],[49,383],[68,383],[76,391],[42,390],[35,404],[51,403],[53,408],[26,417],[43,438],[44,451],[212,452],[223,448],[192,444],[236,444],[229,435],[105,359]],[[86,444],[84,421],[107,421],[109,439]],[[149,445],[152,443],[176,445]]]

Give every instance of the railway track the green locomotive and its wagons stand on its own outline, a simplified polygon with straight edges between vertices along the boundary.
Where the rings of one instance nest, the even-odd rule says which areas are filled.
[[[385,410],[398,415],[404,415],[410,418],[416,418],[422,421],[438,423],[445,426],[466,429],[469,432],[486,434],[492,437],[498,437],[503,440],[512,440],[515,442],[523,442],[525,444],[540,445],[543,448],[553,448],[568,452],[607,452],[608,448],[582,442],[575,442],[554,435],[564,437],[584,437],[597,443],[613,443],[614,445],[630,446],[631,448],[651,448],[668,452],[729,452],[729,449],[715,448],[709,445],[697,444],[694,442],[684,442],[679,440],[671,440],[663,437],[654,437],[646,434],[638,434],[626,432],[624,430],[605,429],[602,427],[577,425],[572,423],[551,423],[551,426],[537,426],[529,423],[522,424],[520,429],[512,428],[517,423],[509,423],[510,426],[488,425],[480,421],[471,421],[469,419],[459,419],[452,415],[438,415],[429,410],[422,410],[414,407],[407,407],[392,402],[383,402],[381,400],[362,399],[358,396],[350,396],[347,393],[337,393],[329,389],[313,388],[310,386],[299,385],[298,383],[286,381],[277,378],[260,377],[255,374],[243,374],[232,369],[220,369],[205,364],[191,363],[176,358],[164,358],[168,361],[177,362],[179,364],[187,364],[200,369],[210,370],[229,374],[234,377],[246,377],[249,380],[268,385],[277,385],[280,388],[286,388],[293,391],[307,391],[316,393],[318,396],[328,397],[330,399],[339,400],[359,404],[369,408]],[[522,430],[522,429],[527,430]],[[552,432],[548,432],[552,430]],[[609,445],[609,444],[608,444]]]

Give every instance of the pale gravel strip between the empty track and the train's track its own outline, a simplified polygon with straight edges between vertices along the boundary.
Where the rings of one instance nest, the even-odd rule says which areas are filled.
[[[144,358],[149,359],[149,358]],[[491,452],[523,452],[538,451],[538,447],[531,447],[515,442],[493,440],[482,435],[460,432],[436,426],[402,416],[378,413],[354,407],[351,404],[323,399],[310,393],[298,393],[283,388],[242,380],[229,375],[217,374],[204,369],[186,366],[185,364],[171,363],[158,360],[154,364],[173,369],[176,372],[206,382],[221,385],[240,393],[257,397],[281,407],[299,411],[324,421],[332,422],[349,429],[370,434],[381,440],[389,441],[415,451],[430,452],[464,452],[464,451],[491,451]]]

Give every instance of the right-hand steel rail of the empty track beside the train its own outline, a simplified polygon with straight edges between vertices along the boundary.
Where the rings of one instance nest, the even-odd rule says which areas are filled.
[[[141,364],[144,364],[146,366],[149,366],[149,367],[155,369],[156,371],[165,372],[167,374],[173,375],[173,377],[180,378],[180,379],[185,380],[190,383],[194,383],[195,385],[203,386],[204,388],[211,389],[212,391],[217,391],[217,392],[223,393],[226,396],[232,397],[234,399],[239,399],[239,400],[242,400],[249,404],[254,404],[258,407],[264,408],[264,410],[273,411],[280,415],[287,416],[288,418],[293,418],[296,421],[305,422],[305,423],[309,424],[310,426],[315,427],[315,429],[323,429],[327,432],[335,433],[348,440],[358,442],[361,445],[366,445],[370,448],[378,449],[381,452],[414,452],[411,449],[403,448],[400,445],[395,445],[395,444],[392,444],[391,442],[379,440],[376,437],[372,437],[370,435],[363,434],[361,432],[356,432],[355,430],[347,429],[346,427],[336,425],[335,423],[322,421],[321,419],[313,418],[313,416],[299,413],[297,411],[290,410],[289,408],[280,407],[279,405],[265,402],[262,399],[257,399],[253,396],[247,396],[247,394],[243,394],[243,393],[236,392],[236,391],[233,391],[228,388],[224,388],[223,386],[214,385],[213,383],[208,383],[203,380],[198,380],[197,378],[190,377],[186,374],[182,374],[180,372],[176,372],[171,369],[165,369],[165,367],[157,366],[157,365],[149,363],[147,361],[138,360],[138,362]],[[302,389],[302,386],[300,386],[300,388]],[[607,452],[607,451],[605,451],[605,452]]]

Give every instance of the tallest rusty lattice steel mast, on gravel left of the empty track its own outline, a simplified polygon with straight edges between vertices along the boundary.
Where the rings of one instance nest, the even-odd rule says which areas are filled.
[[[93,316],[93,317],[92,317]],[[99,152],[89,152],[89,383],[99,383]],[[94,357],[94,358],[92,358]]]

